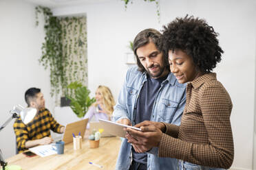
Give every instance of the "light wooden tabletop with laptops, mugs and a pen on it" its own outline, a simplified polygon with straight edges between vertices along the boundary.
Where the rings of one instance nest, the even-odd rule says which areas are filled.
[[[100,138],[100,147],[90,149],[88,139],[84,139],[80,150],[74,150],[73,143],[69,143],[65,145],[64,154],[62,155],[28,158],[24,154],[17,154],[6,159],[6,161],[8,165],[19,165],[23,170],[100,169],[90,165],[89,162],[103,165],[101,169],[115,169],[120,144],[119,137]]]

